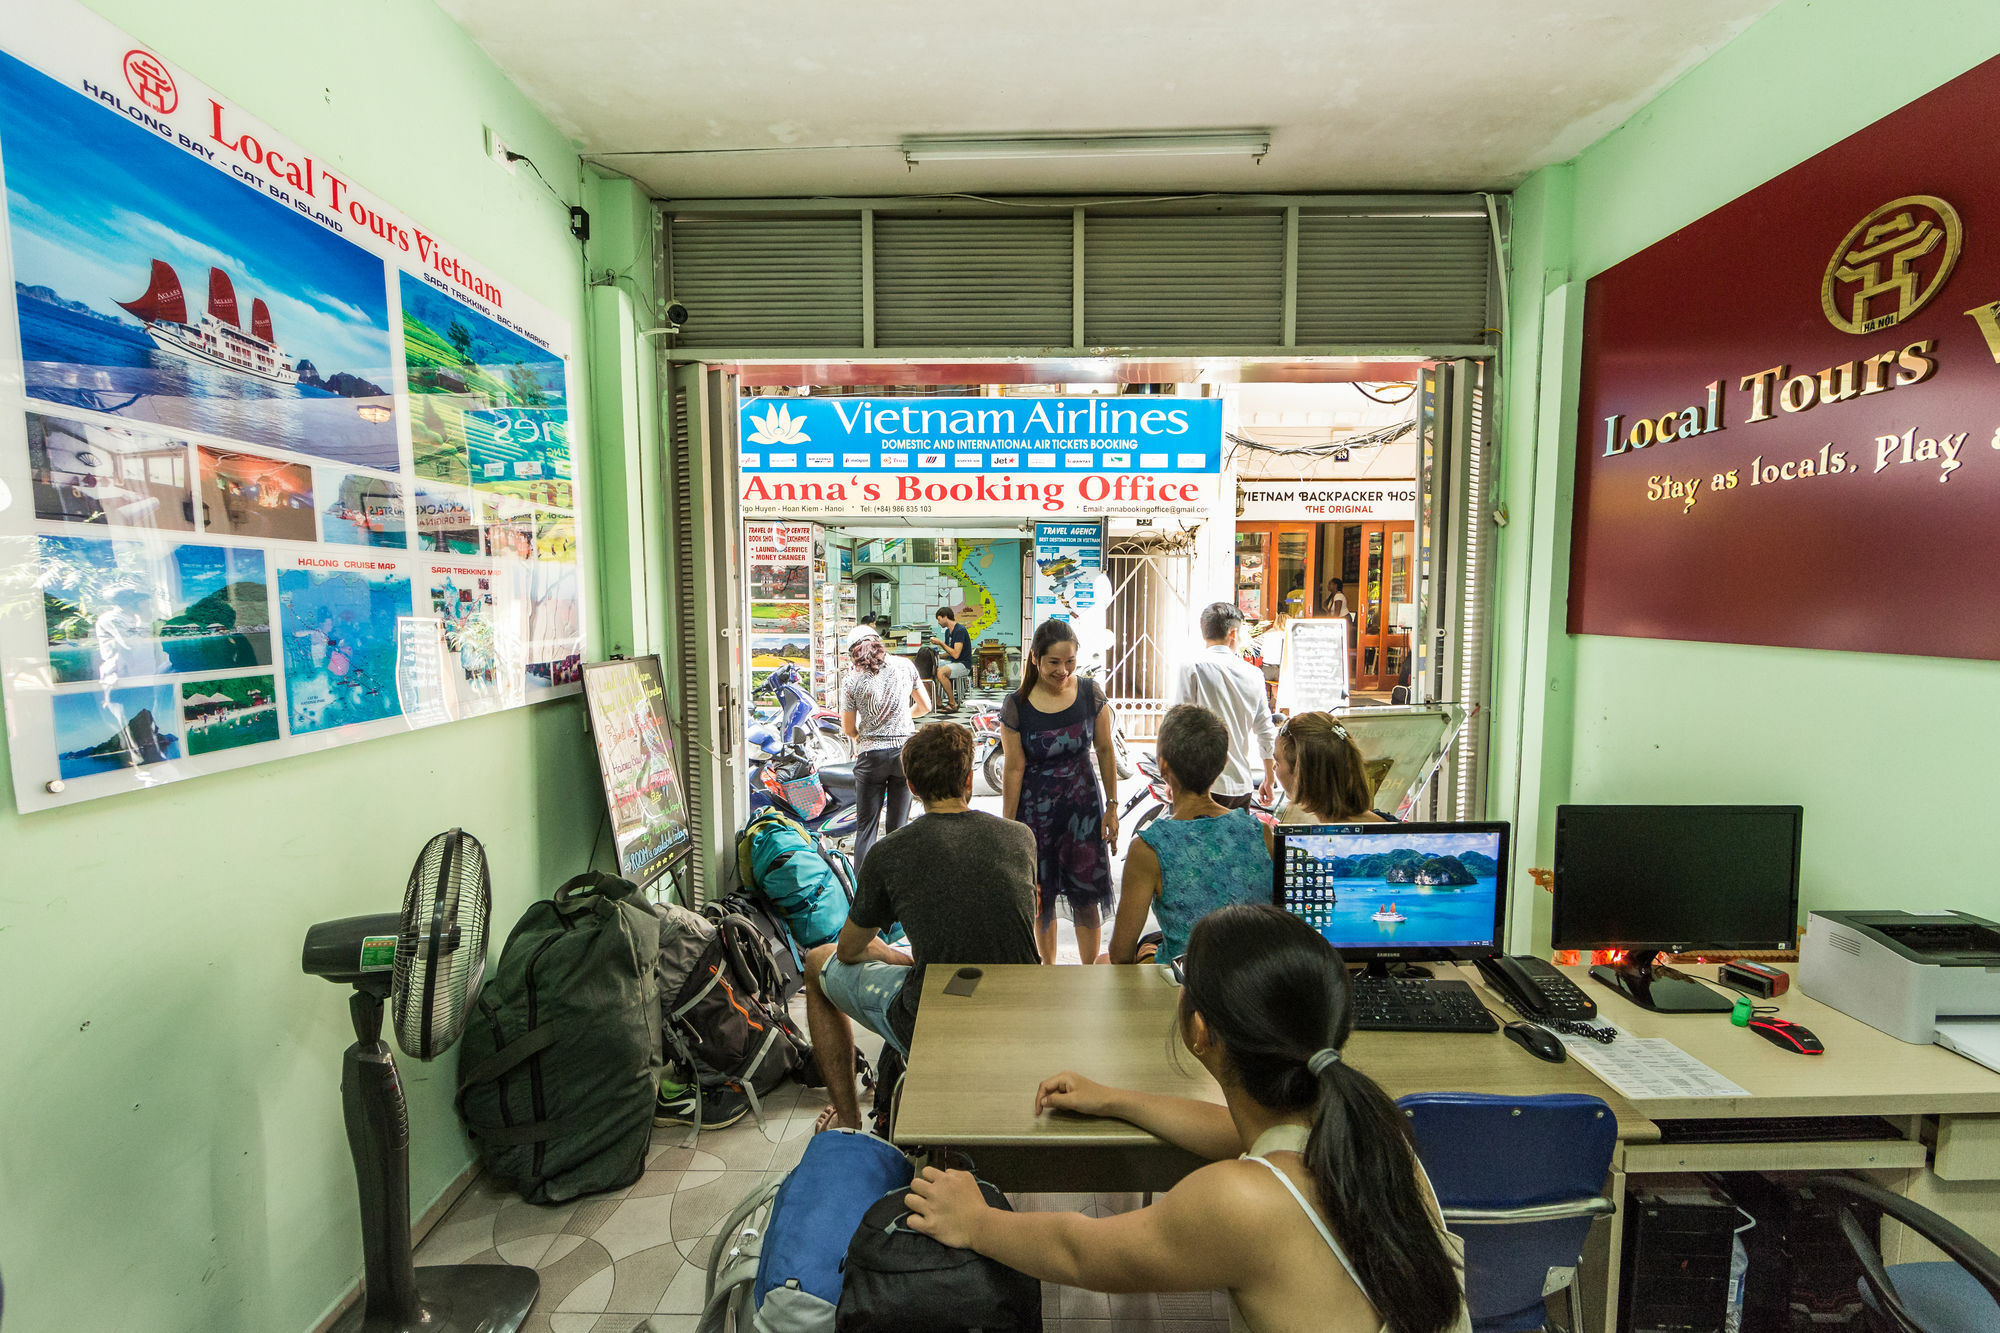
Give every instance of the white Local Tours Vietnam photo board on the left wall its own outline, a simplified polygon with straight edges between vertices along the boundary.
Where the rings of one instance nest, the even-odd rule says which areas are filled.
[[[68,0],[0,182],[22,811],[578,689],[564,320]]]

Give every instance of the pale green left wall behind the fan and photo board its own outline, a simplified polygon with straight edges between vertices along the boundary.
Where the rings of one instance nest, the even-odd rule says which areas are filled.
[[[488,162],[480,126],[576,200],[572,144],[428,0],[94,8],[570,320],[578,394],[632,394],[582,364],[604,330],[588,328],[562,204]],[[618,200],[620,184],[590,188]],[[628,250],[614,228],[592,264],[632,266]],[[608,360],[644,358],[614,346]],[[586,488],[592,416],[576,402]],[[634,448],[644,426],[634,408]],[[596,592],[620,562],[584,570],[592,654],[610,632],[632,638],[630,600],[606,608]],[[460,825],[492,863],[498,955],[528,901],[590,855],[602,799],[578,703],[34,817],[14,815],[4,775],[0,761],[8,1333],[312,1327],[358,1277],[360,1243],[338,1089],[346,993],[298,971],[304,931],[394,911],[424,839]],[[454,1061],[402,1061],[414,1211],[470,1161]]]

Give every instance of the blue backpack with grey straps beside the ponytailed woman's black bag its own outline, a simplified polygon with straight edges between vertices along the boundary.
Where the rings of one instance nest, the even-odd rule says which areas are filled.
[[[702,1333],[832,1333],[854,1229],[872,1203],[910,1189],[914,1177],[910,1159],[884,1139],[852,1129],[812,1135],[798,1165],[738,1203],[716,1233]],[[768,1213],[762,1227],[760,1213]]]

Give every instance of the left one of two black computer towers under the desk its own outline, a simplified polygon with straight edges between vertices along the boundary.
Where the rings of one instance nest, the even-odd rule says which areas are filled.
[[[1618,1333],[1724,1333],[1740,1225],[1698,1175],[1626,1177]]]

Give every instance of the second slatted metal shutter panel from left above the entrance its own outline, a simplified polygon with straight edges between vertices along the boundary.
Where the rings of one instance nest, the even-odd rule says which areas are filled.
[[[1068,346],[1072,236],[1068,214],[876,214],[876,346]]]

